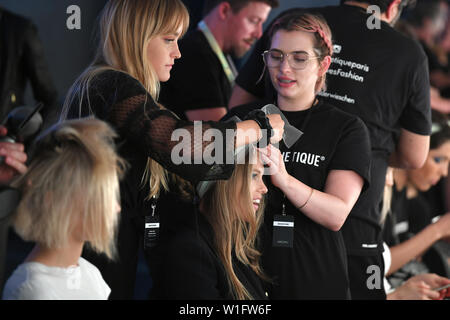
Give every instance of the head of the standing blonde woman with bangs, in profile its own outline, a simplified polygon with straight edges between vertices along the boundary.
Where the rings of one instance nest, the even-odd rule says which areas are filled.
[[[156,99],[188,26],[180,0],[109,0],[100,17],[97,62],[129,73]]]

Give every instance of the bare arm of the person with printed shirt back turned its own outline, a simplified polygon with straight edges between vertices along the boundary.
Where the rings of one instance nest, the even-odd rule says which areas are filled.
[[[404,169],[418,169],[428,156],[430,137],[401,129],[396,150],[391,154],[389,166]]]

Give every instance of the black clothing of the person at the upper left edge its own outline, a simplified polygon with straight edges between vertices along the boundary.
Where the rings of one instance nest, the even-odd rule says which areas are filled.
[[[9,111],[24,105],[27,81],[35,99],[44,103],[41,114],[46,119],[54,108],[57,92],[37,28],[29,19],[3,8],[0,15],[0,121]]]

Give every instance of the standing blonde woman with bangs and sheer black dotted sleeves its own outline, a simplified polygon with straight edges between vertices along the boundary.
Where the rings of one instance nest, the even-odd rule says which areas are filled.
[[[211,139],[202,139],[211,132],[209,129],[219,133],[214,136],[213,146],[221,159],[232,155],[235,147],[255,142],[262,135],[260,129],[272,126],[274,141],[281,139],[283,133],[284,123],[277,115],[237,125],[203,122],[194,126],[157,103],[159,83],[169,79],[175,60],[181,56],[177,41],[188,24],[189,15],[180,0],[110,0],[101,14],[96,58],[66,97],[61,117],[95,115],[106,120],[117,130],[120,153],[131,164],[121,184],[119,261],[110,264],[98,257],[91,258],[111,286],[112,298],[133,297],[143,216],[154,212],[154,202],[145,200],[163,195],[170,184],[177,189],[185,185],[166,169],[191,182],[226,179],[234,169],[233,164],[207,163],[203,159],[204,151],[212,143]],[[179,144],[172,140],[176,129],[194,137],[189,142],[183,140],[187,148],[183,149],[181,163],[173,159],[173,151]],[[227,129],[233,132],[232,140],[226,139]],[[249,131],[254,133],[250,138]]]

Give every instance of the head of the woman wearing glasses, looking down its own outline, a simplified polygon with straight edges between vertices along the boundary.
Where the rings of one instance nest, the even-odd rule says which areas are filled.
[[[263,58],[278,95],[295,99],[324,89],[333,54],[325,20],[310,13],[288,14],[273,24],[270,34]]]

